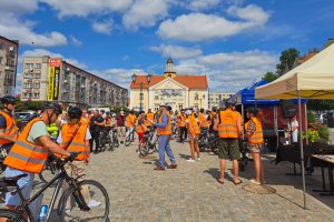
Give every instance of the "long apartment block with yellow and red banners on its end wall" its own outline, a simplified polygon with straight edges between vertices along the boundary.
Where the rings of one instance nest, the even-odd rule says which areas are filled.
[[[59,101],[65,107],[127,107],[128,90],[61,58],[26,57],[22,101]]]

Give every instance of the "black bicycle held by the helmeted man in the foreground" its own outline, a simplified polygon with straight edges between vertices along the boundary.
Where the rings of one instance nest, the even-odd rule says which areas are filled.
[[[78,155],[78,153],[76,153]],[[19,198],[21,200],[21,208],[18,211],[12,211],[9,209],[1,209],[0,210],[0,218],[9,219],[9,221],[17,221],[21,222],[24,221],[22,218],[23,213],[28,213],[28,218],[30,221],[35,222],[37,221],[35,216],[32,215],[32,212],[29,208],[29,205],[41,196],[41,194],[51,186],[55,182],[57,183],[55,192],[52,194],[52,199],[49,204],[49,211],[47,213],[47,221],[50,219],[51,212],[53,210],[53,206],[56,204],[56,200],[58,198],[58,194],[60,192],[60,189],[62,186],[62,182],[66,181],[69,184],[69,188],[61,194],[59,202],[58,202],[58,216],[59,221],[69,221],[69,220],[76,220],[76,221],[108,221],[109,215],[109,196],[106,191],[106,189],[97,181],[94,180],[85,180],[82,182],[78,182],[77,179],[70,178],[66,171],[63,165],[72,161],[75,157],[66,158],[65,160],[57,160],[56,165],[59,169],[59,173],[55,175],[55,178],[48,182],[41,190],[39,190],[32,198],[29,200],[24,200],[21,189],[18,186],[17,182],[19,179],[27,176],[27,173],[23,173],[21,175],[17,175],[13,178],[4,178],[0,180],[2,192],[8,192],[8,188],[14,188],[11,193],[19,194]],[[85,196],[84,191],[88,190],[88,195]],[[75,201],[71,202],[71,198],[73,198]],[[90,200],[88,202],[88,199],[94,198],[98,201]],[[87,203],[88,202],[88,203]],[[73,203],[70,209],[67,209],[67,203]],[[94,204],[95,203],[95,204]],[[99,204],[97,204],[99,203]],[[70,210],[70,211],[69,211]],[[88,218],[84,218],[88,216]]]

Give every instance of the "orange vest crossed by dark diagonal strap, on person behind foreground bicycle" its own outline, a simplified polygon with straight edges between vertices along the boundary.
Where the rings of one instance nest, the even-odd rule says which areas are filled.
[[[73,133],[77,131],[72,142],[67,148],[67,151],[70,152],[79,152],[80,154],[76,158],[76,160],[86,160],[88,157],[88,151],[86,147],[86,132],[87,124],[80,124],[79,130],[78,124],[69,124],[65,123],[61,129],[61,144],[62,149],[66,149],[69,144],[70,140],[73,138]]]

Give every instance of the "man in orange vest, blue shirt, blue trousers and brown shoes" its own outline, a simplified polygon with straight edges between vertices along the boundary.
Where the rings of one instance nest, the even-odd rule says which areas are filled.
[[[167,153],[171,164],[167,165],[168,169],[176,169],[176,160],[174,158],[169,140],[171,137],[171,118],[167,111],[166,104],[160,104],[160,117],[158,122],[150,121],[156,125],[159,137],[159,164],[156,165],[154,170],[163,171],[165,170],[165,152]]]

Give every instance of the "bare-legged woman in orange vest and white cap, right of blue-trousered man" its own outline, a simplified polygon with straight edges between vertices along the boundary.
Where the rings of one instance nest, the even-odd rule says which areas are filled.
[[[190,154],[191,154],[191,159],[189,159],[187,161],[195,162],[195,151],[197,153],[196,160],[200,160],[199,159],[199,147],[198,147],[198,135],[199,135],[200,131],[199,131],[197,120],[190,110],[187,110],[186,117],[187,117],[186,128],[188,130],[188,140],[189,140]]]

